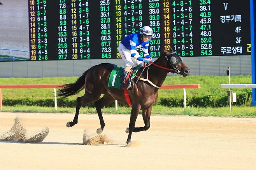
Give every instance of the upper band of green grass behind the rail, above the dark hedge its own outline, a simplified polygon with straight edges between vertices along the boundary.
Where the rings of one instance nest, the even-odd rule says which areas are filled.
[[[0,78],[0,85],[10,84],[67,84],[73,83],[78,77],[58,77],[58,78]],[[227,84],[227,76],[188,76],[182,78],[180,76],[168,76],[163,84],[200,84],[200,89],[186,89],[187,98],[198,95],[205,96],[212,93],[226,94],[227,89],[221,88],[221,84]],[[231,83],[251,83],[251,76],[231,76]],[[232,89],[233,92],[243,92],[251,89]],[[76,99],[76,97],[84,94],[82,90],[79,94],[70,96],[70,99]],[[52,88],[32,88],[32,89],[2,89],[3,99],[8,98],[21,98],[21,97],[33,97],[35,99],[52,98]],[[159,97],[183,97],[182,89],[161,89],[159,90]]]

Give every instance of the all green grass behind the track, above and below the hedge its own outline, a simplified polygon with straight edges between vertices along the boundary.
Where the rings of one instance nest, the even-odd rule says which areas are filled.
[[[61,78],[0,78],[0,85],[8,84],[65,84],[73,83],[78,77],[61,77]],[[188,76],[182,78],[180,76],[167,77],[163,84],[200,84],[200,89],[186,89],[187,99],[192,96],[205,96],[212,93],[222,93],[226,95],[227,89],[221,88],[221,84],[228,82],[227,76]],[[231,83],[251,83],[251,76],[231,76]],[[237,94],[245,90],[251,89],[232,89]],[[75,99],[77,96],[84,94],[84,91],[77,95],[69,97]],[[32,89],[2,89],[3,100],[5,98],[24,98],[33,97],[35,99],[53,99],[52,88],[32,88]],[[161,97],[180,97],[183,98],[182,89],[162,89],[159,90],[159,99]],[[41,112],[41,113],[74,113],[75,108],[54,108],[37,107],[37,106],[3,106],[4,112]],[[103,113],[122,113],[129,114],[130,108],[103,108]],[[95,108],[84,107],[81,108],[81,113],[96,113]],[[256,116],[256,108],[250,107],[250,104],[244,106],[233,106],[232,112],[228,107],[223,108],[169,108],[165,106],[153,106],[152,114],[162,115],[195,115],[195,116]]]

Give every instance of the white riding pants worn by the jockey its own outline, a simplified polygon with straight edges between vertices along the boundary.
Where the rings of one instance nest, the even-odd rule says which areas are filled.
[[[126,49],[122,43],[119,43],[118,51],[124,61],[125,66],[143,66],[143,61],[139,61],[131,57],[131,51]]]

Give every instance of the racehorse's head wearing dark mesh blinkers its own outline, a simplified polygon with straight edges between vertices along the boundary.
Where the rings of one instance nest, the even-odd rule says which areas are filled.
[[[163,52],[165,53],[165,58],[169,68],[174,69],[175,73],[178,73],[183,77],[189,75],[190,71],[188,67],[182,62],[183,59],[178,56],[173,49],[163,50]]]

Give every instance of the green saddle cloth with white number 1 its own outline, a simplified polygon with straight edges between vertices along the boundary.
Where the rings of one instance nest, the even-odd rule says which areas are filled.
[[[137,74],[141,67],[136,67],[133,74]],[[111,71],[109,76],[109,87],[118,88],[120,89],[121,79],[123,75],[123,67],[114,66],[114,69]],[[133,78],[135,78],[134,75],[130,76],[129,83],[132,81]]]

